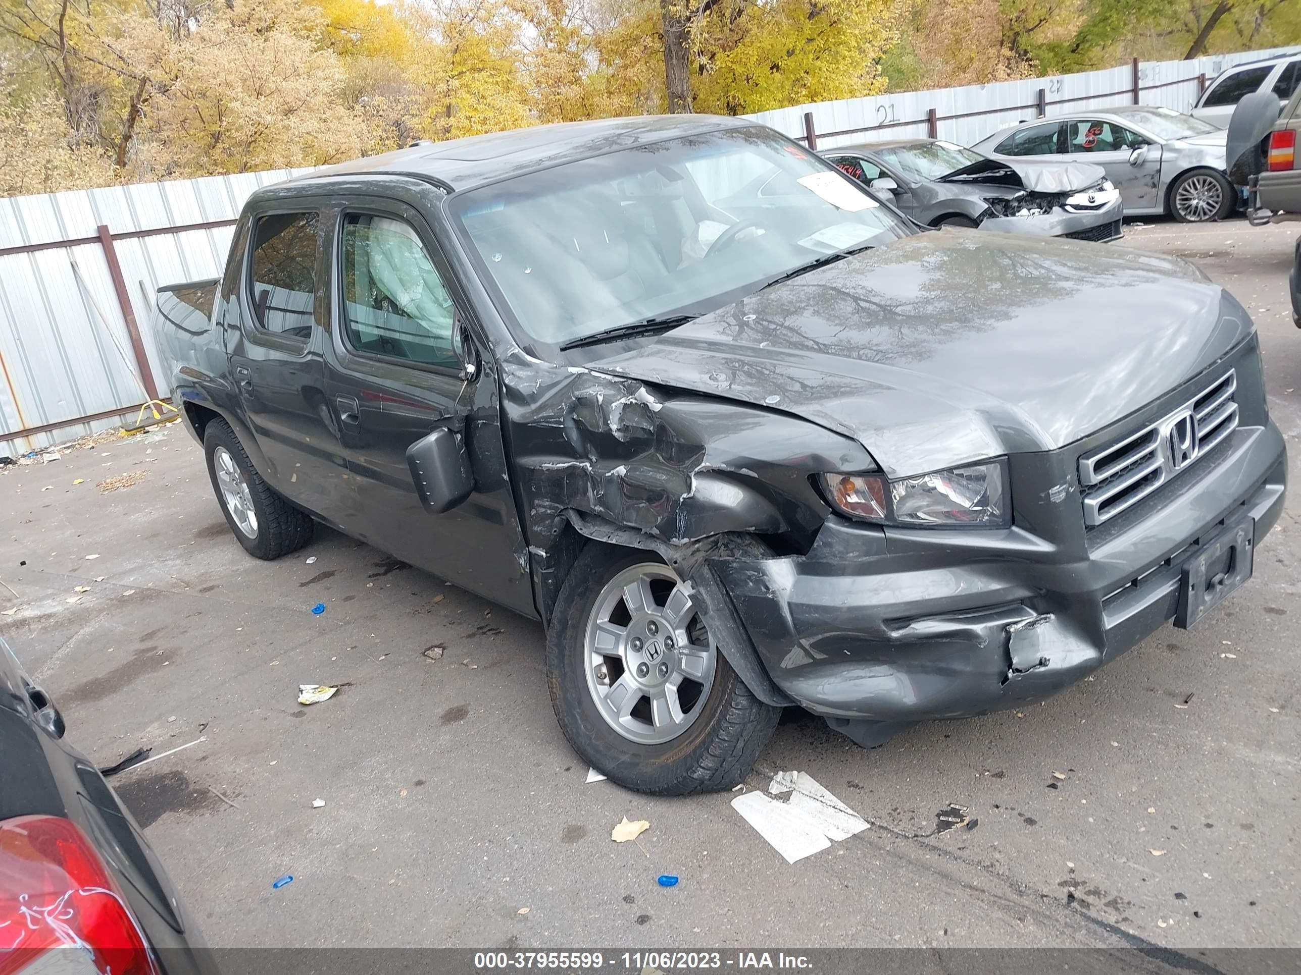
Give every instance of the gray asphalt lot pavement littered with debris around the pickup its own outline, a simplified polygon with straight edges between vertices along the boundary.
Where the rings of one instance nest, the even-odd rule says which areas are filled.
[[[1125,240],[1249,308],[1293,474],[1298,226]],[[1042,706],[873,751],[788,715],[747,789],[801,771],[870,824],[795,864],[731,794],[587,784],[537,623],[325,529],[246,556],[178,426],[9,468],[0,498],[0,634],[70,741],[101,766],[189,745],[112,781],[213,945],[1301,945],[1296,493],[1255,577],[1197,629]],[[304,707],[299,684],[345,686]],[[950,803],[974,828],[941,832]],[[611,842],[623,816],[650,828]]]

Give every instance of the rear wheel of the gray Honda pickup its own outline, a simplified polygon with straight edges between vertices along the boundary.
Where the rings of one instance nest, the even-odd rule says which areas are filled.
[[[203,452],[221,514],[245,551],[258,559],[278,559],[312,540],[315,523],[262,480],[230,424],[208,422]]]

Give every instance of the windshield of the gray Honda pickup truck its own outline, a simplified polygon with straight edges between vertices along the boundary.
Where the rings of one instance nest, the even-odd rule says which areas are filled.
[[[820,256],[911,233],[829,162],[762,127],[576,160],[450,205],[511,316],[553,344],[703,315]]]

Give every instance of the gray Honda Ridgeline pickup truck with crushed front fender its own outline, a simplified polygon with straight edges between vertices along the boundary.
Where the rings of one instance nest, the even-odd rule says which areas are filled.
[[[742,780],[1042,699],[1252,575],[1284,445],[1189,264],[921,230],[703,116],[419,144],[259,190],[157,334],[250,554],[314,520],[540,619],[583,760]]]

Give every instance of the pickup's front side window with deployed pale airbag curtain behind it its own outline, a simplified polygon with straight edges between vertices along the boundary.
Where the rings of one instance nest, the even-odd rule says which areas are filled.
[[[343,218],[343,329],[358,352],[457,367],[451,298],[415,229],[369,213]]]

